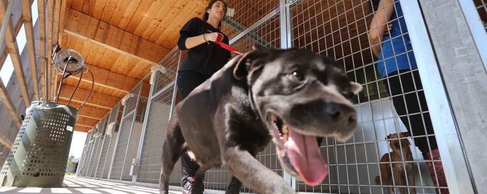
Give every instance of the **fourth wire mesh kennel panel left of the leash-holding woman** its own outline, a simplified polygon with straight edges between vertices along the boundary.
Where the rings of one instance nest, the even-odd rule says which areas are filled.
[[[98,122],[95,132],[95,144],[93,146],[93,154],[88,165],[88,172],[86,176],[95,177],[95,171],[97,170],[98,160],[100,159],[101,143],[103,142],[103,134],[105,133],[106,118],[104,116],[100,122]]]

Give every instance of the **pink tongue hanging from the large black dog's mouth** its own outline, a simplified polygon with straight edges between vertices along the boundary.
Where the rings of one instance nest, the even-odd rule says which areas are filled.
[[[328,169],[321,156],[316,137],[299,134],[290,128],[288,131],[289,139],[285,145],[294,169],[307,185],[320,184],[328,174]]]

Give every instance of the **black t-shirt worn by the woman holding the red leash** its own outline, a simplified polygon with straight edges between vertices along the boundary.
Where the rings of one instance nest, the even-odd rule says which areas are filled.
[[[181,29],[181,37],[178,41],[178,47],[181,50],[185,50],[187,49],[185,46],[187,38],[213,32],[223,34],[219,29],[214,28],[208,22],[205,22],[200,18],[193,18]],[[221,42],[228,44],[228,37],[223,35],[223,40]],[[188,55],[186,59],[184,59],[183,64],[179,67],[179,70],[192,70],[210,76],[220,70],[230,59],[230,51],[223,49],[220,45],[213,42],[208,43],[202,43],[190,48],[188,50]]]

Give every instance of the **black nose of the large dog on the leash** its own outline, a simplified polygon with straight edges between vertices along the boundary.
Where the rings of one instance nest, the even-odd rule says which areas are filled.
[[[355,110],[347,105],[329,102],[326,103],[325,111],[333,121],[342,121],[348,124],[353,124],[357,121]]]

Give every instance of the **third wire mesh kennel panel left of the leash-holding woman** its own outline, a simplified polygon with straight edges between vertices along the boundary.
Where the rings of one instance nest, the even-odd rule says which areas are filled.
[[[108,170],[110,167],[109,164],[112,156],[111,153],[113,152],[116,140],[114,138],[116,137],[116,133],[114,132],[116,129],[116,123],[118,122],[117,118],[119,116],[119,110],[120,103],[110,110],[110,114],[105,125],[105,130],[103,132],[104,137],[101,143],[100,159],[98,160],[97,171],[95,174],[96,178],[106,178],[108,175]],[[110,130],[110,132],[107,133],[107,130]]]

